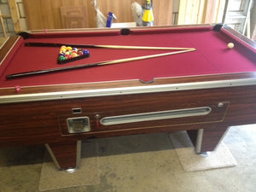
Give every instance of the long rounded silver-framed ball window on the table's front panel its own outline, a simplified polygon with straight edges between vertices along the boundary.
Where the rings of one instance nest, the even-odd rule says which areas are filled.
[[[143,122],[148,120],[175,119],[183,117],[193,117],[207,115],[211,113],[212,108],[183,108],[177,110],[150,112],[150,113],[133,113],[118,116],[109,116],[101,119],[102,125],[119,125],[127,123]]]

